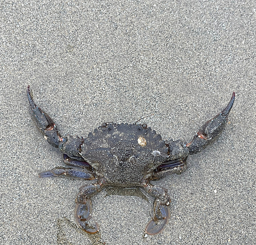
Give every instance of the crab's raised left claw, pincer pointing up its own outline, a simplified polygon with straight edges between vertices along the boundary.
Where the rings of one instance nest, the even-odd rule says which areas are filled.
[[[59,143],[62,142],[62,138],[56,129],[56,125],[53,120],[39,108],[32,99],[30,94],[30,86],[27,88],[27,95],[30,104],[31,114],[36,122],[41,133],[44,134],[45,139],[54,147],[58,147]]]

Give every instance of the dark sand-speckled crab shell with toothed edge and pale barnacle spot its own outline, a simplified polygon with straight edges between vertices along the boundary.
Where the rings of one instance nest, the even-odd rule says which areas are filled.
[[[168,161],[168,145],[150,127],[109,124],[98,127],[81,145],[81,157],[112,185],[138,185]]]

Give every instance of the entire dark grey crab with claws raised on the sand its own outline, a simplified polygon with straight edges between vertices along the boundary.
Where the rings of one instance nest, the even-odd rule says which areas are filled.
[[[216,117],[207,121],[186,143],[182,140],[162,140],[145,123],[102,123],[87,138],[61,137],[53,120],[33,101],[27,88],[32,117],[45,139],[63,153],[65,167],[39,173],[39,177],[65,177],[91,181],[80,188],[76,196],[75,219],[88,233],[99,226],[92,215],[91,197],[105,186],[140,187],[153,196],[153,217],[145,233],[160,233],[170,217],[170,197],[166,188],[151,184],[168,174],[186,170],[189,154],[196,154],[214,142],[224,129],[234,103],[233,92],[228,105]]]

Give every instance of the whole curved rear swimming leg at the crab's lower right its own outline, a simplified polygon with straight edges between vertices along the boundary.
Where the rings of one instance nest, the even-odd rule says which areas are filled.
[[[144,188],[149,194],[156,197],[154,201],[153,218],[148,222],[145,233],[148,235],[156,235],[163,230],[170,217],[170,197],[167,194],[167,189],[161,186],[147,184]]]

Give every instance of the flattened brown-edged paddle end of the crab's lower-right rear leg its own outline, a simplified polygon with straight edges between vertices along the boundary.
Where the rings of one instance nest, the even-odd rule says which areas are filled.
[[[156,203],[156,201],[155,201]],[[161,205],[159,202],[154,208],[154,218],[146,225],[145,233],[148,235],[156,235],[162,232],[170,217],[169,206]]]

